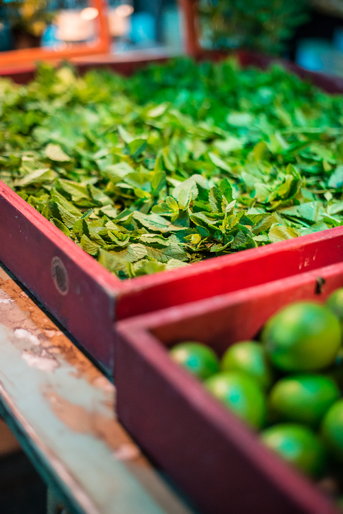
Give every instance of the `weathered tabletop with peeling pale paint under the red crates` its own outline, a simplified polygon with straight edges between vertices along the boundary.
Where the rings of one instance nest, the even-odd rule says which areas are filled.
[[[115,387],[0,266],[0,413],[71,513],[183,514],[115,418]]]

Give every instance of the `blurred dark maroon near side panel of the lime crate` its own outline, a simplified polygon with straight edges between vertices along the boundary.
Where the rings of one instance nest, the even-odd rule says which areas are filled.
[[[335,512],[319,491],[262,447],[255,434],[217,404],[196,379],[165,362],[167,355],[161,350],[146,332],[119,329],[117,412],[132,436],[200,511]]]

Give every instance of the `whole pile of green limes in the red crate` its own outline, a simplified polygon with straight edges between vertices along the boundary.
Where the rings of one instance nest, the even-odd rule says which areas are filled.
[[[261,341],[230,346],[220,360],[200,342],[171,358],[196,375],[261,440],[312,478],[343,462],[343,288],[325,305],[300,301],[277,312]]]

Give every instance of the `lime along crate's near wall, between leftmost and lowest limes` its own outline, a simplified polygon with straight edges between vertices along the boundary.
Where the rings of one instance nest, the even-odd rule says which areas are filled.
[[[265,396],[254,379],[239,371],[218,373],[206,380],[206,388],[237,416],[255,428],[265,423]]]

